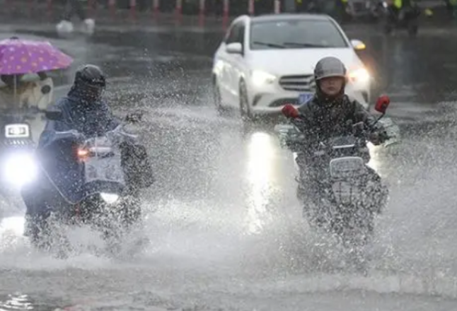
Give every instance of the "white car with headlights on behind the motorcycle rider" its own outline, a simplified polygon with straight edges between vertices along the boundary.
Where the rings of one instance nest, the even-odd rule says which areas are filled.
[[[239,108],[249,118],[277,114],[287,103],[301,105],[316,89],[314,66],[333,56],[348,70],[347,95],[368,108],[371,77],[355,52],[364,48],[330,16],[240,16],[214,55],[216,106]]]

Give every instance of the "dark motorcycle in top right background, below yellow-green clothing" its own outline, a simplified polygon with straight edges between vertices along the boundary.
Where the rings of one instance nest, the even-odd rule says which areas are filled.
[[[393,4],[383,1],[383,31],[389,35],[396,29],[406,29],[411,36],[417,35],[419,30],[420,8],[411,1],[411,5],[396,11]]]

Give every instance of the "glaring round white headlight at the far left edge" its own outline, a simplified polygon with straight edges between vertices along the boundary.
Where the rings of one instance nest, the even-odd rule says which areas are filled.
[[[15,186],[33,182],[38,174],[38,166],[32,154],[14,154],[4,163],[4,180]]]

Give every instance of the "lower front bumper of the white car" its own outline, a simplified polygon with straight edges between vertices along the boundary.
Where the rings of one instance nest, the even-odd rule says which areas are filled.
[[[254,115],[270,115],[281,112],[286,104],[299,106],[299,95],[304,92],[282,91],[275,93],[256,93],[251,97],[250,110]],[[346,88],[345,92],[352,100],[357,100],[366,109],[369,107],[369,88],[354,89]]]

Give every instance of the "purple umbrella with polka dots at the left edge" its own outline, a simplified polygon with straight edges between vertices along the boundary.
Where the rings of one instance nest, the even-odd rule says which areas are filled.
[[[73,59],[53,47],[50,42],[19,40],[0,41],[0,74],[31,74],[64,69]]]

